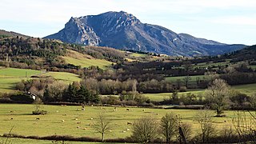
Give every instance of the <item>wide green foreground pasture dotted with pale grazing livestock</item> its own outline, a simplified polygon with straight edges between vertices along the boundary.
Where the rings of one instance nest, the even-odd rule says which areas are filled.
[[[22,135],[72,135],[75,137],[89,136],[99,138],[100,134],[95,133],[93,124],[97,120],[97,115],[104,112],[111,121],[112,131],[106,134],[106,138],[125,138],[131,134],[131,125],[127,122],[134,122],[142,116],[151,115],[158,119],[166,113],[179,114],[182,122],[190,123],[193,126],[193,133],[199,129],[195,115],[200,110],[164,110],[150,108],[129,108],[86,106],[86,110],[81,110],[81,106],[42,106],[42,110],[47,110],[46,115],[31,115],[34,110],[33,105],[0,104],[0,134],[8,133],[12,126],[12,133]],[[143,111],[144,110],[144,111]],[[13,111],[10,113],[10,111]],[[213,112],[213,111],[212,111]],[[212,113],[214,125],[220,130],[222,126],[231,124],[235,111],[225,111],[226,117],[215,118]],[[11,119],[13,118],[13,119]],[[37,120],[37,118],[40,118]],[[62,121],[63,120],[63,121]]]

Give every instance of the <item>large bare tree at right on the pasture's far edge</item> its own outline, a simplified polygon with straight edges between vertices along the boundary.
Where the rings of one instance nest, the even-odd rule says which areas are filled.
[[[230,86],[222,79],[215,79],[206,90],[206,100],[210,102],[212,109],[216,110],[216,116],[220,117],[228,106]]]

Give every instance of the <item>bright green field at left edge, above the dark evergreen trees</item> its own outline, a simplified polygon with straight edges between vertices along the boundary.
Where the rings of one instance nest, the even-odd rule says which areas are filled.
[[[2,68],[0,69],[0,92],[10,93],[15,91],[15,86],[22,80],[29,80],[33,75],[52,76],[53,78],[66,82],[80,81],[77,74],[66,72],[42,72],[41,70]]]

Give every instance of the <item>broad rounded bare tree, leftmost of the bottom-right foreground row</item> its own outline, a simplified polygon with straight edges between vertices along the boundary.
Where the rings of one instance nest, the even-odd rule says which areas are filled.
[[[134,122],[132,138],[137,142],[148,143],[158,134],[158,122],[151,116],[138,118]]]

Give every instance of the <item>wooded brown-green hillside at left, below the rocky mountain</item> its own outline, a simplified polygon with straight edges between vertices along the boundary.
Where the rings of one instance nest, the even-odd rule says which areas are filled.
[[[79,46],[42,38],[10,37],[0,40],[0,60],[14,67],[37,69],[56,66],[58,68],[77,68],[64,62],[61,57],[69,58],[67,50],[75,50],[78,54],[88,54],[90,59],[105,59],[110,62],[123,61],[125,53],[106,47]],[[90,63],[90,62],[89,62]],[[92,63],[93,66],[93,63]],[[34,68],[33,68],[34,69]]]

